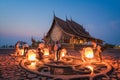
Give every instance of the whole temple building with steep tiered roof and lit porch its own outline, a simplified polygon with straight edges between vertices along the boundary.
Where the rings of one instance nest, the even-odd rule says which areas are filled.
[[[52,25],[48,33],[44,36],[44,40],[50,44],[59,42],[67,48],[85,46],[85,43],[92,40],[102,43],[102,40],[92,37],[82,25],[72,19],[64,21],[56,16],[54,16]]]

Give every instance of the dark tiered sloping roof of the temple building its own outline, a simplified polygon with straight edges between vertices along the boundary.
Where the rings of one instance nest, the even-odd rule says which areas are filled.
[[[53,19],[53,23],[51,28],[49,29],[46,37],[48,37],[51,33],[52,28],[54,27],[53,25],[57,24],[59,25],[59,27],[61,27],[62,31],[68,35],[72,35],[75,37],[80,37],[80,38],[87,38],[87,39],[92,39],[92,40],[97,40],[99,42],[101,42],[102,40],[100,39],[96,39],[94,37],[92,37],[89,32],[87,32],[82,25],[76,23],[73,20],[68,20],[66,19],[66,21],[54,16]]]

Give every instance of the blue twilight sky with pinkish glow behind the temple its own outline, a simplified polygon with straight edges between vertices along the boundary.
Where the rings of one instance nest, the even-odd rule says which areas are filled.
[[[120,44],[120,0],[0,0],[0,46],[40,40],[53,12],[63,20],[71,16],[93,37]]]

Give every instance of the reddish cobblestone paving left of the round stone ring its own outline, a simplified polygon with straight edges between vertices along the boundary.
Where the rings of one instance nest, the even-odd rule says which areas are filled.
[[[21,59],[0,54],[0,80],[50,80],[21,68]]]

